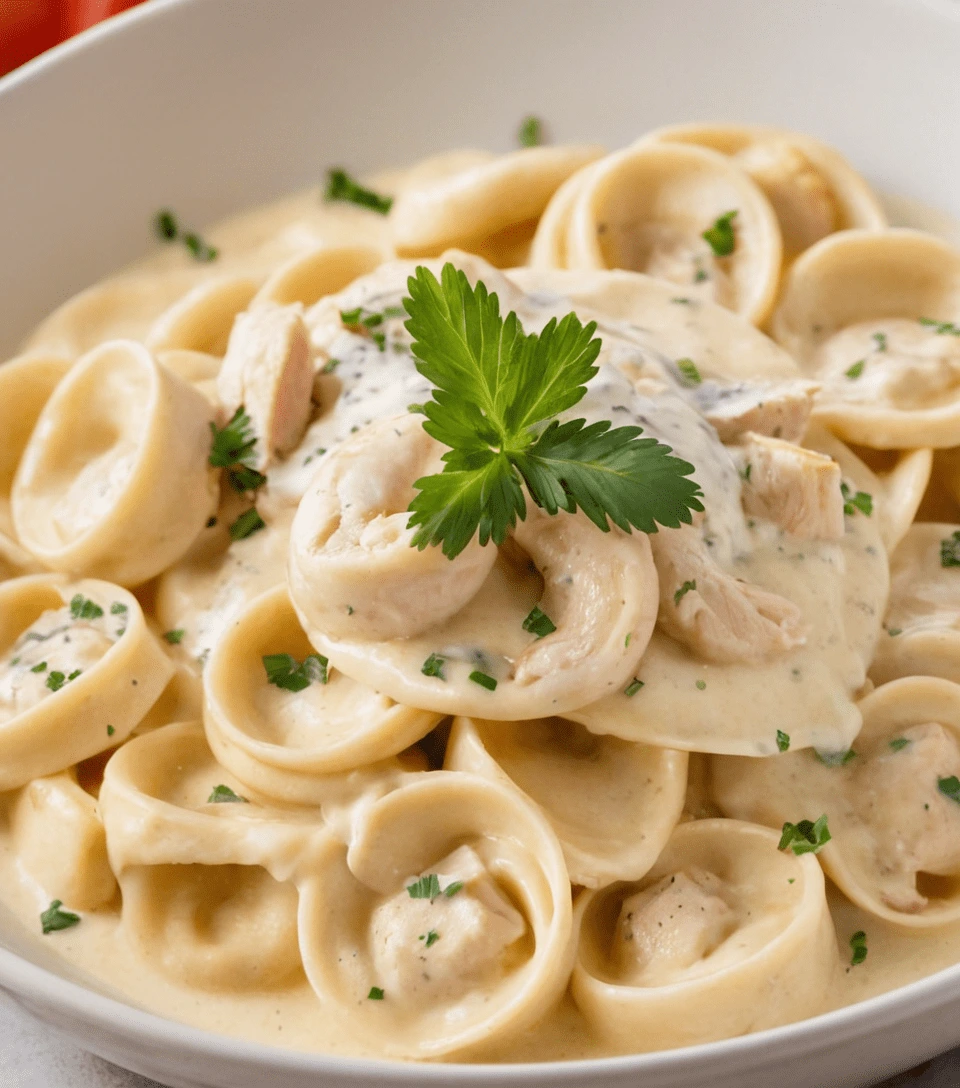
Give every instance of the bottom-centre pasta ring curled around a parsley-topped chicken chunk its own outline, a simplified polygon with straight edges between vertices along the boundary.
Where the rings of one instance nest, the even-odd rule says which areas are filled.
[[[383,1052],[482,1054],[555,1005],[574,951],[569,879],[516,790],[454,771],[402,786],[301,888],[307,977]]]

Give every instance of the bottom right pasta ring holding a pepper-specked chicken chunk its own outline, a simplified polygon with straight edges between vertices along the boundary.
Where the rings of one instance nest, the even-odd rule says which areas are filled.
[[[643,880],[581,894],[577,925],[574,999],[621,1050],[807,1016],[838,967],[816,860],[736,820],[681,825]]]

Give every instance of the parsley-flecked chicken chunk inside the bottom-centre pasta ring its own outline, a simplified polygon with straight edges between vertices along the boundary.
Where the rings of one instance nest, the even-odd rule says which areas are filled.
[[[410,1003],[450,1001],[503,973],[527,924],[476,851],[460,846],[404,885],[372,917],[373,963],[384,991]],[[408,891],[414,885],[417,898]]]

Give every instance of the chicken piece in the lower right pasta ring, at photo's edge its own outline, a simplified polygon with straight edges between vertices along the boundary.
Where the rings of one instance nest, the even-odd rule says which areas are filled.
[[[858,766],[851,796],[873,832],[881,898],[915,914],[927,905],[919,874],[960,874],[960,804],[939,788],[960,776],[960,746],[935,722],[912,726],[894,740]]]

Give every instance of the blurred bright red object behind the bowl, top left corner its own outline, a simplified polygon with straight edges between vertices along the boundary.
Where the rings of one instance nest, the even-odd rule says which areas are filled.
[[[143,0],[0,0],[0,75]]]

